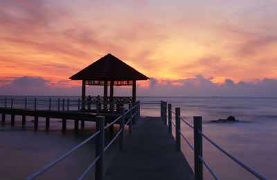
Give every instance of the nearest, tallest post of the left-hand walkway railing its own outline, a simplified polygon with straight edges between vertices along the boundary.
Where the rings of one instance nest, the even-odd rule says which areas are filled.
[[[105,147],[105,117],[96,116],[96,131],[100,134],[96,138],[96,157],[99,156],[96,162],[96,179],[104,179],[104,147]]]

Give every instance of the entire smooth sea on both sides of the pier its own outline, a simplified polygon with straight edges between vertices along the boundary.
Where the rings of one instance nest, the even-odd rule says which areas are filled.
[[[7,97],[7,107],[10,107],[11,98],[12,96]],[[12,106],[24,107],[25,98],[27,108],[34,108],[37,98],[36,108],[48,109],[51,98],[51,109],[57,109],[57,99],[60,98],[60,110],[63,108],[73,110],[78,108],[80,97],[14,96]],[[67,99],[69,99],[68,107]],[[138,97],[138,100],[141,102],[141,116],[159,117],[161,100],[172,104],[173,112],[179,107],[181,118],[190,125],[193,125],[193,116],[202,116],[202,132],[206,136],[253,170],[268,179],[277,179],[277,98]],[[3,106],[5,97],[0,96],[0,107]],[[239,121],[211,123],[211,120],[229,116],[234,116]],[[24,179],[95,132],[95,124],[86,122],[85,129],[75,134],[73,122],[69,122],[66,134],[62,134],[61,122],[58,119],[51,120],[49,131],[44,129],[44,119],[39,119],[39,129],[33,131],[33,117],[27,117],[25,127],[21,126],[20,120],[20,117],[16,117],[15,126],[12,127],[10,117],[6,116],[6,122],[0,126],[0,179]],[[172,121],[175,122],[174,114]],[[193,129],[186,123],[181,123],[181,132],[193,144]],[[175,134],[174,128],[172,134],[173,136]],[[181,151],[193,169],[193,150],[182,138]],[[112,159],[115,153],[116,151],[111,150],[107,159]],[[203,139],[203,153],[204,161],[220,179],[256,179],[205,139]],[[78,179],[78,175],[93,159],[94,148],[89,144],[39,178]],[[205,167],[204,179],[213,179]]]

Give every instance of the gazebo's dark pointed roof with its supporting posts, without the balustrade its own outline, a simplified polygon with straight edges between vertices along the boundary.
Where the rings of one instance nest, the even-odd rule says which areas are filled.
[[[132,98],[128,100],[134,103],[136,102],[136,81],[149,78],[114,55],[107,54],[69,79],[82,80],[82,110],[84,110],[86,85],[104,86],[103,102],[104,109],[107,109],[107,102],[114,102],[114,86],[132,86]],[[108,86],[110,86],[109,97]]]

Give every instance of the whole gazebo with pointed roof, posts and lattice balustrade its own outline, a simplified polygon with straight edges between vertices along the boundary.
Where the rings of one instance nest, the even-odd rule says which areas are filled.
[[[124,104],[136,103],[136,81],[149,78],[125,62],[111,54],[107,54],[93,64],[82,69],[71,80],[82,80],[81,111],[93,111],[91,105],[96,105],[96,111],[114,113]],[[86,97],[86,86],[103,86],[103,96]],[[132,86],[132,97],[114,97],[114,86]],[[108,87],[110,87],[108,96]]]

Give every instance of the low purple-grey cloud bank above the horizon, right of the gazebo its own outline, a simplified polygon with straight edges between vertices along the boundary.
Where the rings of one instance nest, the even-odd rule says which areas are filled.
[[[159,81],[150,80],[149,89],[141,89],[143,96],[258,96],[276,97],[277,80],[265,78],[256,82],[238,83],[226,79],[223,84],[212,82],[213,78],[196,75],[195,78]]]

